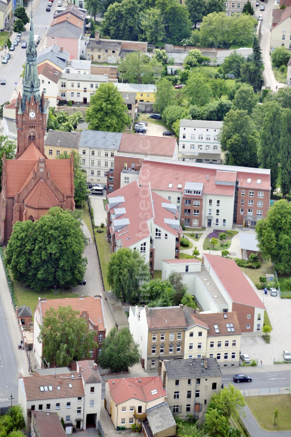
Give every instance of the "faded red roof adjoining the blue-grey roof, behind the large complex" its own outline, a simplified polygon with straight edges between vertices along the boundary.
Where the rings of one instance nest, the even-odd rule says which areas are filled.
[[[172,157],[176,143],[175,137],[122,134],[118,151]]]

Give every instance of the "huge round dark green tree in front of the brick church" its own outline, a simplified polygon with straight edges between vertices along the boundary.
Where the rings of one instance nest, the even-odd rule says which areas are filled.
[[[35,291],[77,286],[84,278],[87,239],[80,222],[62,208],[50,208],[36,222],[16,222],[7,244],[5,265],[15,281]]]

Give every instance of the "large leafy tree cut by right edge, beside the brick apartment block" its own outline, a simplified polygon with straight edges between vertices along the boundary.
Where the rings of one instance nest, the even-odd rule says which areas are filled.
[[[279,200],[256,225],[263,257],[271,259],[279,274],[291,273],[291,204]],[[265,258],[264,258],[265,259]]]

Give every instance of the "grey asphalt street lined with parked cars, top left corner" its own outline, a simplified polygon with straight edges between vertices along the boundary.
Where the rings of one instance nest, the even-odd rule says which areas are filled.
[[[38,4],[36,3],[38,2]],[[43,48],[43,40],[45,33],[47,32],[50,23],[53,20],[53,11],[56,9],[57,1],[54,1],[53,7],[50,12],[46,12],[47,2],[45,0],[36,0],[33,4],[36,4],[33,11],[33,29],[35,35],[39,35],[41,40],[37,46],[37,52]],[[21,49],[21,43],[28,42],[30,23],[26,24],[26,31],[22,32],[21,42],[15,48],[14,52],[9,52],[11,59],[7,64],[0,63],[0,77],[6,80],[6,85],[1,85],[0,88],[0,104],[5,101],[11,101],[16,97],[15,88],[19,91],[21,88],[22,80],[20,74],[22,73],[22,65],[25,63],[26,49]],[[14,40],[16,33],[11,35],[11,42]],[[4,55],[4,51],[1,52]]]

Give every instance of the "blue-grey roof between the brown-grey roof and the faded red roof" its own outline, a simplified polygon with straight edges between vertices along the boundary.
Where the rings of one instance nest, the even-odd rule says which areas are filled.
[[[102,132],[83,130],[79,142],[80,147],[95,147],[95,149],[118,150],[122,134],[119,132]]]

